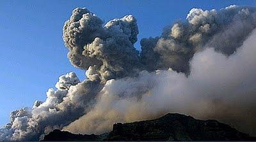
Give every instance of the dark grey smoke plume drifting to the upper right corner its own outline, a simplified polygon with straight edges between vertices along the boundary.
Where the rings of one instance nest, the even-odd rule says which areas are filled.
[[[141,62],[148,71],[172,67],[189,73],[189,60],[195,52],[211,46],[231,55],[255,26],[255,8],[234,5],[220,11],[193,8],[185,22],[166,27],[161,37],[141,40]]]

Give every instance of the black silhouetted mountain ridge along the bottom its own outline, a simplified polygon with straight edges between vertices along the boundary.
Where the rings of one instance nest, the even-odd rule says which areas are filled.
[[[43,141],[256,141],[256,138],[216,120],[168,113],[154,120],[114,124],[113,131],[101,135],[54,130]]]

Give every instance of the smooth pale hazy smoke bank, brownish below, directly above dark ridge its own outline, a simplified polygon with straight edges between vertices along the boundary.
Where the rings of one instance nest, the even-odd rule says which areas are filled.
[[[256,132],[256,31],[226,57],[207,48],[191,60],[191,73],[172,69],[141,71],[136,78],[109,80],[93,110],[65,127],[76,133],[102,133],[116,122],[133,122],[178,112],[215,118]]]

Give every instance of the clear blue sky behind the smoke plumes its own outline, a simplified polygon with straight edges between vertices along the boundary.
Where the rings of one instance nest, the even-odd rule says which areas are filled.
[[[255,6],[256,1],[0,1],[0,125],[10,111],[45,100],[45,92],[70,71],[84,71],[67,59],[62,27],[76,7],[86,7],[102,20],[132,14],[140,39],[159,36],[166,25],[186,18],[191,8],[220,9],[230,4]]]

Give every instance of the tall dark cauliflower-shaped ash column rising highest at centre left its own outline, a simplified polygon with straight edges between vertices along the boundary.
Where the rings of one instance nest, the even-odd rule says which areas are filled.
[[[132,15],[115,18],[104,26],[102,20],[86,8],[76,8],[63,29],[70,62],[88,69],[95,79],[109,80],[132,76],[140,68],[137,41],[138,26]]]

